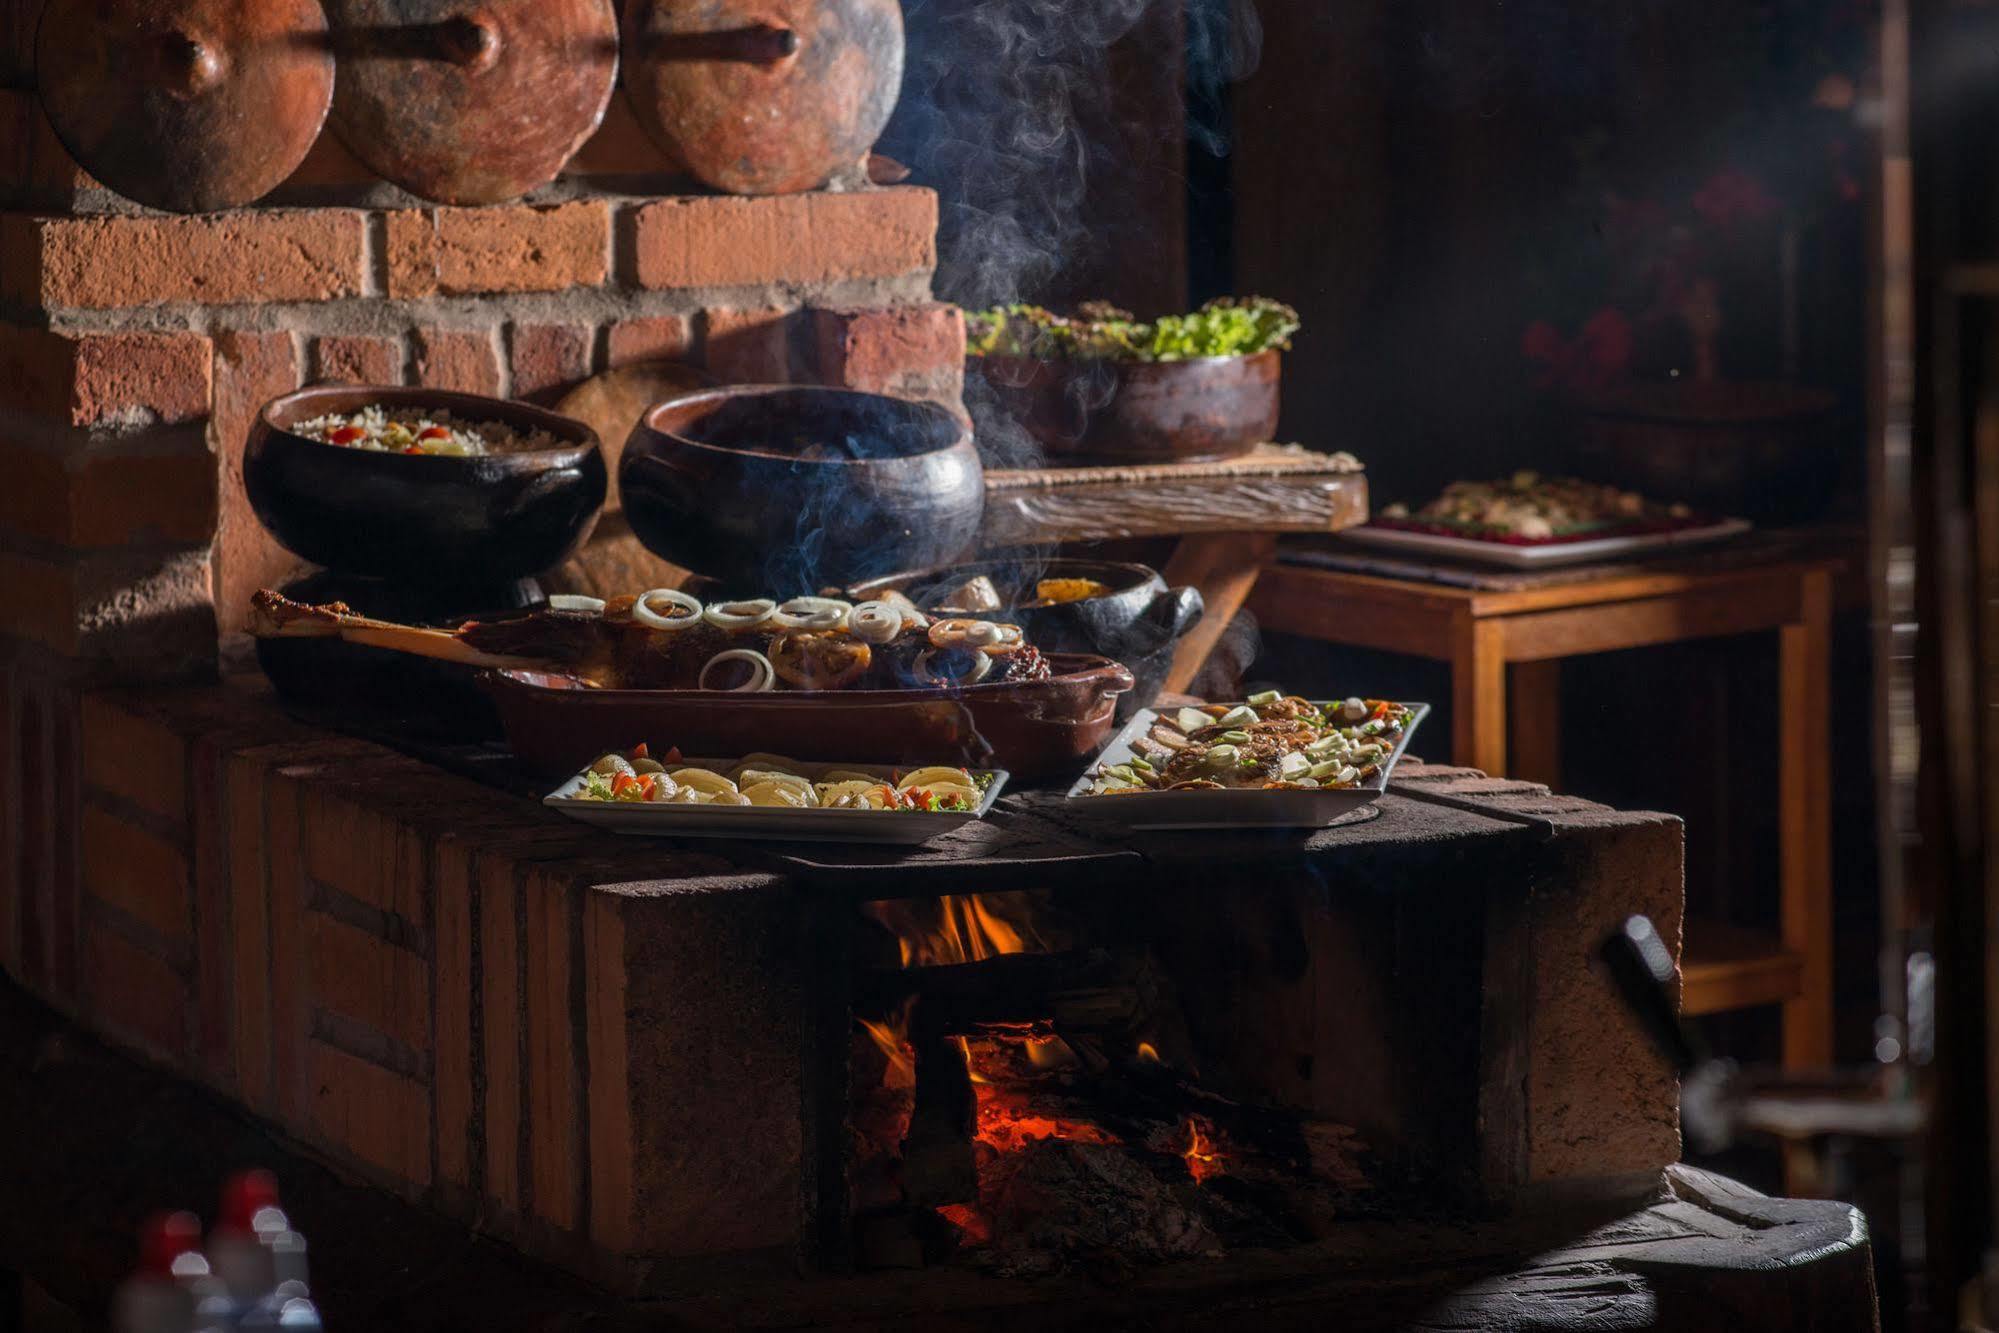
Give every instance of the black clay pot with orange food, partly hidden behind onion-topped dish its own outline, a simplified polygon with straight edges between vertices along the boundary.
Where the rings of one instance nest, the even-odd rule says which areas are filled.
[[[948,606],[950,594],[980,574],[1009,604],[1009,610],[994,616],[1025,630],[1035,648],[1095,654],[1131,669],[1137,683],[1119,695],[1119,717],[1151,705],[1173,662],[1173,646],[1203,612],[1197,588],[1167,588],[1149,566],[1109,560],[982,560],[868,580],[854,584],[848,594],[866,600],[896,590],[924,610],[940,610]],[[1019,602],[1033,602],[1033,586],[1043,578],[1095,580],[1111,592],[1061,606],[1019,608]]]

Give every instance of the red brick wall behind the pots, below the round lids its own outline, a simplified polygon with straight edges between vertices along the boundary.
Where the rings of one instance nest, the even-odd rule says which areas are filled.
[[[676,360],[958,402],[928,190],[856,172],[838,192],[670,194],[614,100],[572,174],[522,204],[422,204],[324,134],[272,206],[146,212],[50,132],[26,86],[32,8],[0,0],[6,638],[128,677],[212,662],[248,594],[296,570],[248,512],[240,454],[256,410],[300,384],[552,402]]]

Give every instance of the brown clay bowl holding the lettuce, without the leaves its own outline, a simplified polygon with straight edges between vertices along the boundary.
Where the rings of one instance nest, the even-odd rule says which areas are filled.
[[[970,366],[1051,464],[1237,458],[1277,432],[1275,350],[1185,362],[974,356]]]

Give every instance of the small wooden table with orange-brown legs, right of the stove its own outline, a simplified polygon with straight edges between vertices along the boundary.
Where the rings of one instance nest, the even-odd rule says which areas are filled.
[[[1451,757],[1559,785],[1559,664],[1621,648],[1777,632],[1781,941],[1689,927],[1683,1005],[1783,1005],[1783,1063],[1833,1055],[1831,608],[1839,562],[1793,554],[1633,564],[1589,578],[1459,588],[1269,564],[1249,610],[1265,630],[1451,664]],[[1511,671],[1509,671],[1511,667]]]

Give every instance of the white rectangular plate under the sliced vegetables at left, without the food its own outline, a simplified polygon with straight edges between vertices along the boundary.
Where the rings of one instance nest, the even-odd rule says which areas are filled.
[[[728,771],[742,759],[686,759],[688,767]],[[818,769],[850,769],[890,781],[892,769],[882,763],[816,763]],[[914,771],[916,763],[900,771]],[[914,847],[940,833],[984,819],[1000,799],[1005,769],[968,769],[974,777],[992,773],[980,807],[972,811],[926,809],[794,809],[790,805],[672,805],[666,801],[592,801],[580,797],[584,773],[542,797],[550,809],[572,819],[596,823],[614,833],[642,837],[780,837],[820,843],[896,843]]]

